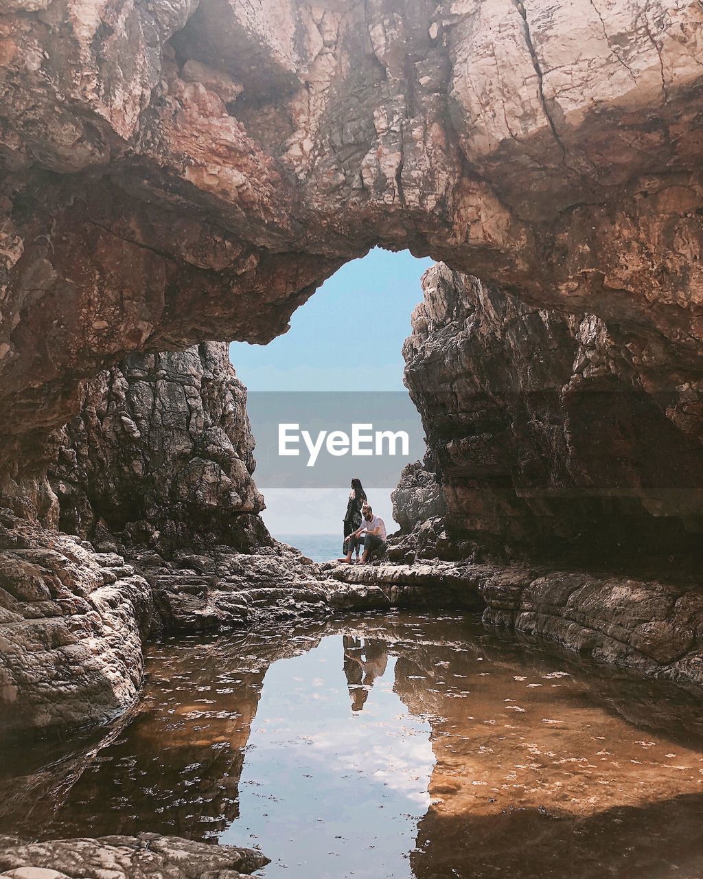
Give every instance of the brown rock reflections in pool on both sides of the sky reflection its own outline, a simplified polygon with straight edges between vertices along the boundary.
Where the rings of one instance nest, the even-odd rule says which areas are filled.
[[[86,828],[97,836],[108,828],[137,833],[148,824],[195,839],[221,835],[238,813],[266,669],[334,634],[362,686],[396,657],[395,693],[430,723],[434,802],[410,855],[418,879],[560,872],[593,879],[604,862],[621,866],[627,879],[635,866],[658,879],[669,875],[665,856],[688,869],[670,868],[671,875],[697,875],[699,701],[564,650],[535,649],[531,639],[520,646],[460,616],[346,616],[154,645],[134,721],[98,752],[61,808],[6,812],[2,826],[22,835],[41,826],[62,837]],[[42,788],[33,792],[42,798]],[[631,855],[620,865],[628,834]],[[569,858],[581,860],[567,869]],[[647,858],[660,872],[642,869]]]

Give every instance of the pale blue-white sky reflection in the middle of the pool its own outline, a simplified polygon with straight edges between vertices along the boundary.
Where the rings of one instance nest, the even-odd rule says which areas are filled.
[[[430,803],[430,724],[393,692],[395,659],[352,712],[341,636],[266,673],[240,783],[240,817],[221,843],[274,857],[267,879],[411,875]]]

